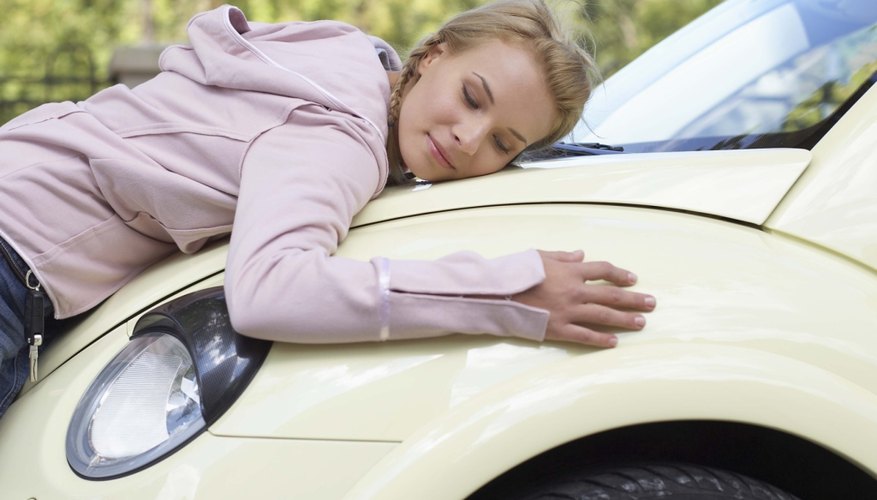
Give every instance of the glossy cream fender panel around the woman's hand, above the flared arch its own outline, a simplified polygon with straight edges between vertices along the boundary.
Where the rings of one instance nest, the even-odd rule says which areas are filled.
[[[625,207],[496,207],[362,228],[342,253],[433,258],[462,248],[498,255],[530,246],[583,248],[591,259],[634,269],[636,289],[655,294],[659,307],[647,315],[645,330],[622,333],[611,352],[465,337],[343,350],[277,345],[237,411],[214,432],[402,441],[496,385],[537,376],[571,357],[668,343],[773,352],[877,393],[871,376],[877,373],[877,281],[752,228]],[[283,410],[273,410],[278,406]]]

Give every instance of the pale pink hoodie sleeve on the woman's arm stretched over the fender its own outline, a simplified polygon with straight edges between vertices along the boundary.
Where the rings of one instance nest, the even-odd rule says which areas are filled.
[[[436,261],[331,256],[382,181],[360,134],[349,115],[305,106],[252,144],[226,269],[235,329],[300,343],[450,333],[542,340],[547,311],[503,298],[542,282],[535,250]]]

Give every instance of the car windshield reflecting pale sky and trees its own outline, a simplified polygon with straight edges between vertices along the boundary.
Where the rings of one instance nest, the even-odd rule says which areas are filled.
[[[595,88],[564,141],[812,147],[877,71],[874,0],[729,0]]]

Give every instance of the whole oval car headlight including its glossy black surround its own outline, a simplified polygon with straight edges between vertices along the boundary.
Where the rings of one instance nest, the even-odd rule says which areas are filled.
[[[165,458],[231,406],[270,346],[234,332],[221,288],[150,311],[73,412],[68,463],[109,479]]]

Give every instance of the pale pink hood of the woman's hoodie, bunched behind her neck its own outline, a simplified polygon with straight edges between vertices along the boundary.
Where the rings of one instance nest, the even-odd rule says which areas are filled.
[[[386,140],[385,73],[401,61],[383,40],[336,21],[252,23],[230,5],[195,16],[187,31],[191,45],[166,49],[162,70],[204,85],[312,101],[365,119]]]

